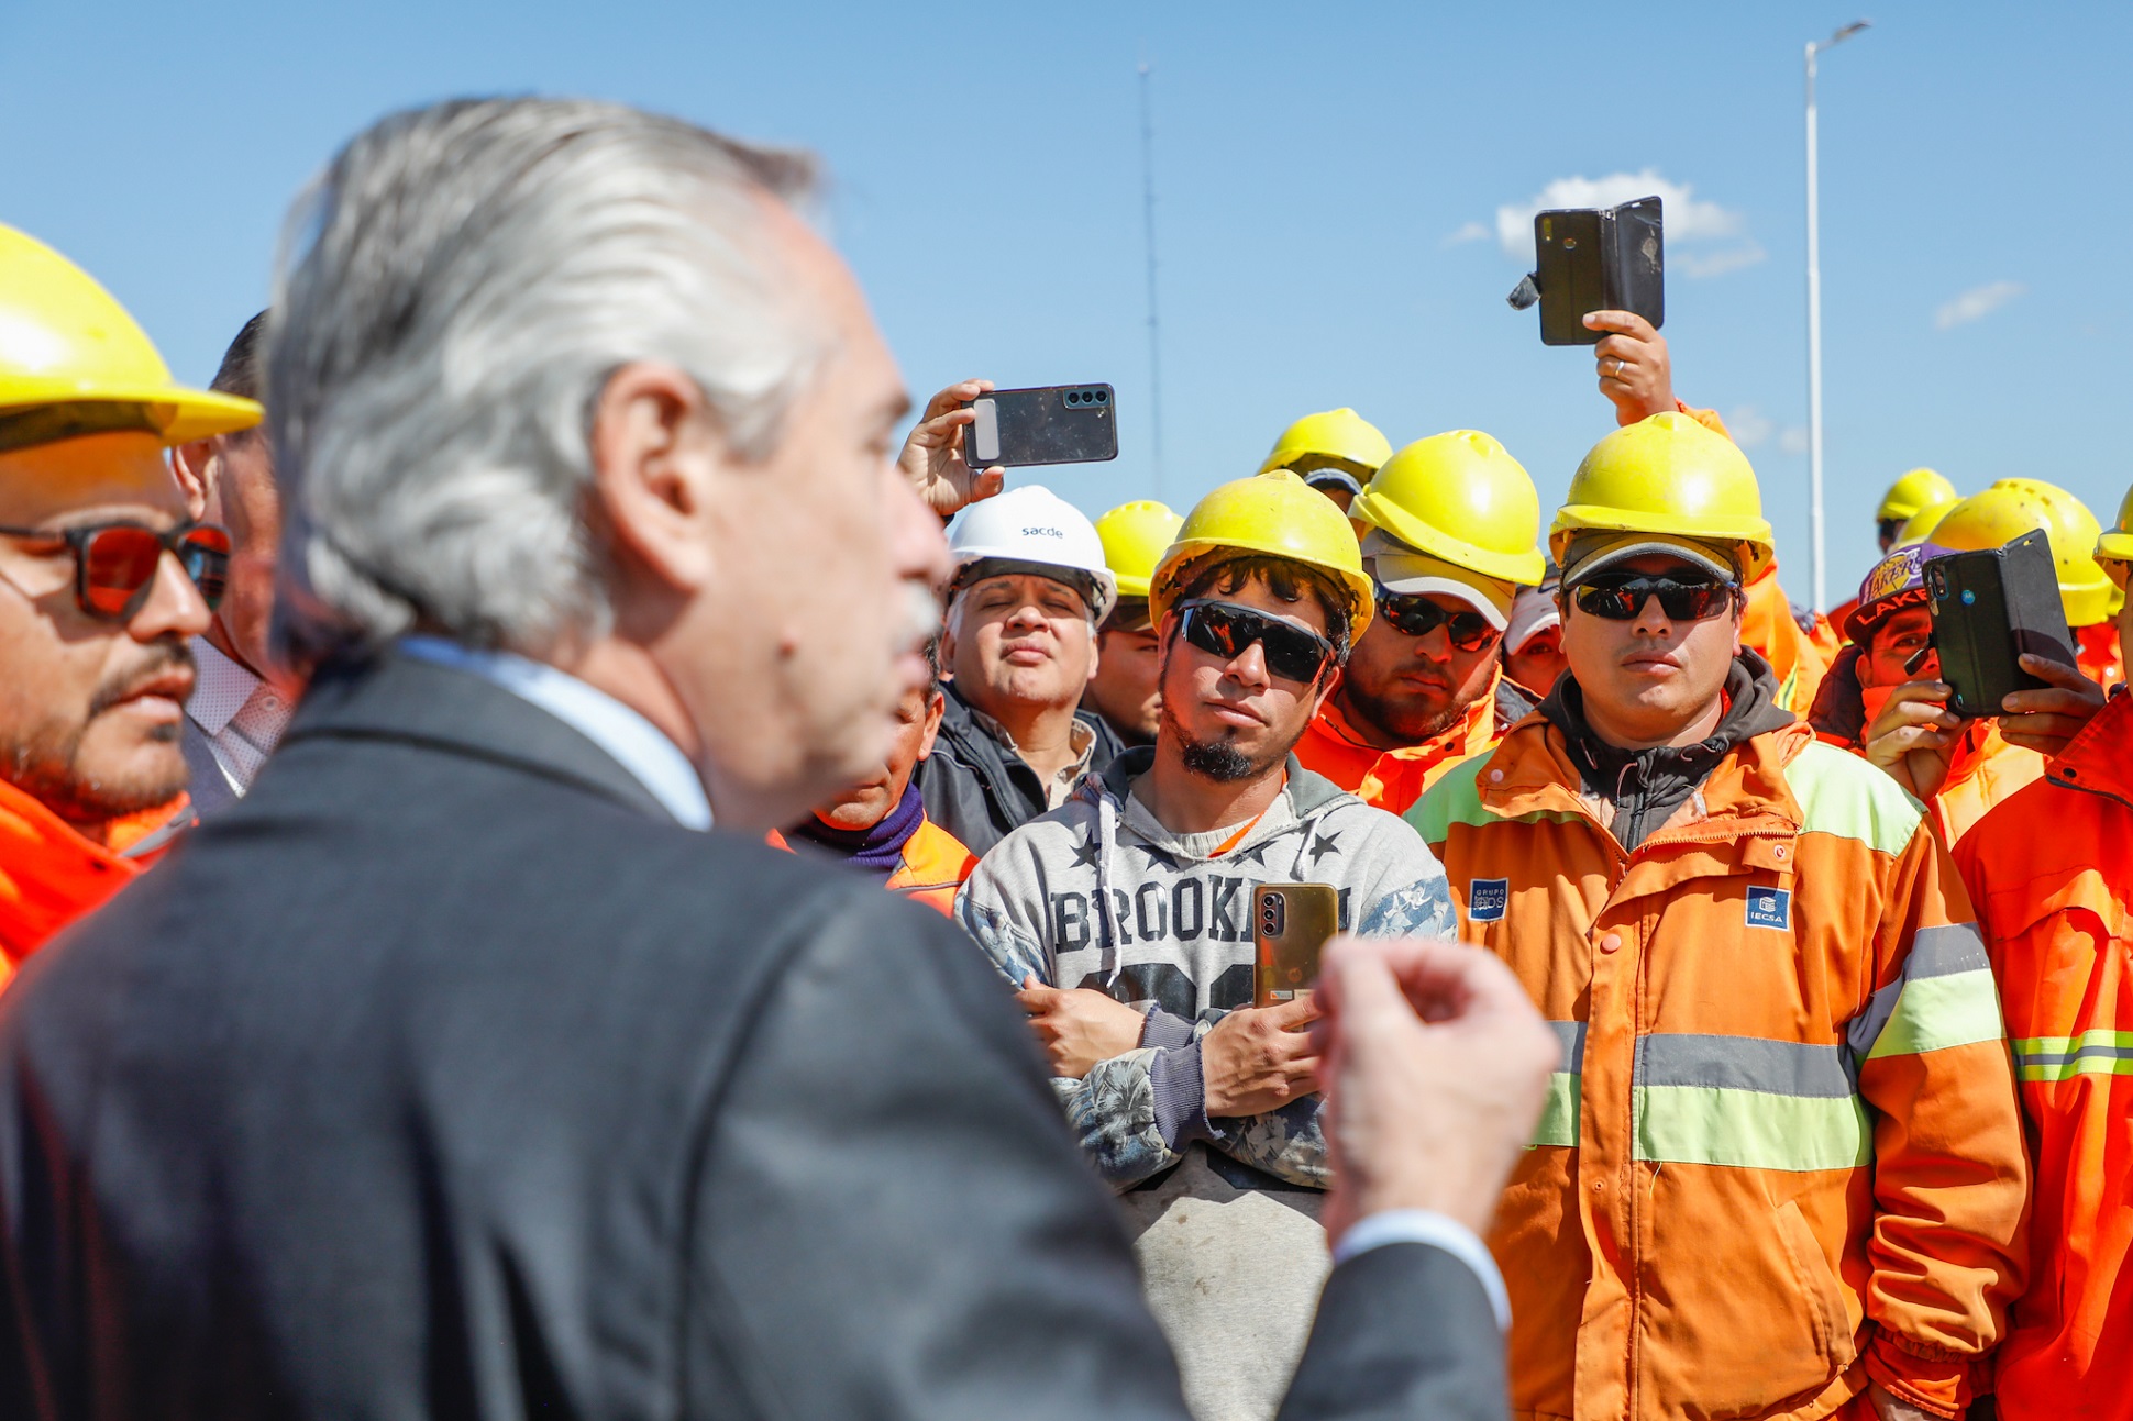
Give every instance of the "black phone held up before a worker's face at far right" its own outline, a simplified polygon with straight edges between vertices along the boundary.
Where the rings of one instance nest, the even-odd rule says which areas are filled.
[[[1956,715],[1999,715],[2014,691],[2046,683],[2022,670],[2028,651],[2073,666],[2073,634],[2058,600],[2058,568],[2041,531],[2005,548],[1952,553],[1926,563],[1932,644]]]

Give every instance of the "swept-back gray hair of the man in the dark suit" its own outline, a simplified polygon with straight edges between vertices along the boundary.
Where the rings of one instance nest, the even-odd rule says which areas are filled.
[[[290,215],[269,320],[282,651],[602,636],[599,393],[676,365],[768,454],[828,324],[766,203],[811,188],[804,156],[582,100],[454,100],[350,141]]]

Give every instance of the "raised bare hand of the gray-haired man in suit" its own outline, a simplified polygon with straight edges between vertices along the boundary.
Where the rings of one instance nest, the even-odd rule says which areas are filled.
[[[1478,947],[1340,937],[1318,1003],[1327,1238],[1380,1210],[1485,1233],[1561,1056],[1525,988]]]

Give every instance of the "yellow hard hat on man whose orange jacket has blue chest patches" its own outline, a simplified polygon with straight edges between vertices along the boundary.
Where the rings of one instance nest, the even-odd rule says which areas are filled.
[[[1591,529],[1736,544],[1743,582],[1777,559],[1747,454],[1674,410],[1625,425],[1585,454],[1549,529],[1555,561]]]

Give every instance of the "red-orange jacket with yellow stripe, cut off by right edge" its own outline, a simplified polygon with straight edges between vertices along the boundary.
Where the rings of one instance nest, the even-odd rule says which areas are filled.
[[[2007,1421],[2133,1421],[2133,696],[1956,849],[2014,1037],[2037,1169]]]

